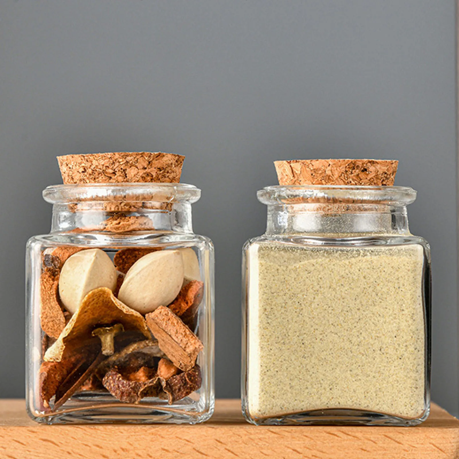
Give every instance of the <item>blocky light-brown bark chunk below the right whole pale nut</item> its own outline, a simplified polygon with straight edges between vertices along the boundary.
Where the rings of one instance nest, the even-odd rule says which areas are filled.
[[[160,306],[146,315],[146,322],[159,348],[175,366],[183,371],[193,368],[202,342],[169,308]]]

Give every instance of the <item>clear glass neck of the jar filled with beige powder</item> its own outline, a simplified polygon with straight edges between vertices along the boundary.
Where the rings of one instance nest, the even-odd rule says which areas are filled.
[[[266,235],[329,237],[409,235],[406,206],[385,204],[271,204]]]

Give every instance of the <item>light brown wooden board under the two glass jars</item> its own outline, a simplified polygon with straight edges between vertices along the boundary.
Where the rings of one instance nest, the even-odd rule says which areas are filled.
[[[457,459],[459,420],[432,404],[417,427],[255,426],[239,400],[200,425],[38,425],[23,400],[0,400],[1,459]]]

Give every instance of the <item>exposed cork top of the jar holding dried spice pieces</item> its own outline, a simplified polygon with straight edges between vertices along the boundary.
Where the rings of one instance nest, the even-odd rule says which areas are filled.
[[[64,184],[179,183],[184,156],[116,152],[58,156]]]

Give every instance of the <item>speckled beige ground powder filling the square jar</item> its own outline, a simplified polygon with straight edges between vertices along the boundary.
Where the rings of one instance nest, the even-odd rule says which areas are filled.
[[[424,411],[423,248],[248,252],[248,410]]]

